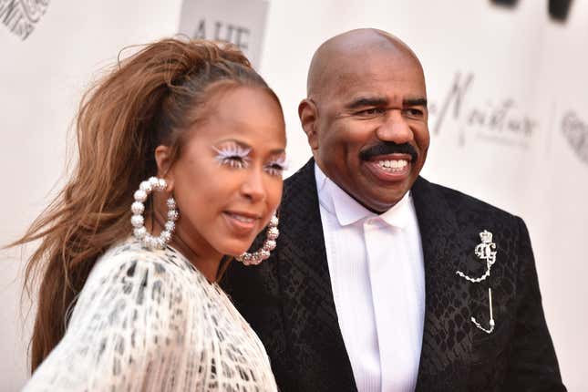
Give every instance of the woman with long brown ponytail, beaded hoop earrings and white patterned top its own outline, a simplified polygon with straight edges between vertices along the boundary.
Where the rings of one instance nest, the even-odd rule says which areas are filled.
[[[42,241],[25,390],[276,390],[217,284],[278,234],[284,117],[262,77],[233,47],[162,40],[88,92],[77,139],[71,179],[17,242]]]

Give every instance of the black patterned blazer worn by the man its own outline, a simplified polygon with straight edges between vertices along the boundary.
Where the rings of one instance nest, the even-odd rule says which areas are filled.
[[[356,391],[335,312],[314,165],[310,160],[284,183],[271,258],[259,266],[232,263],[223,284],[260,335],[282,391]],[[412,194],[426,282],[417,390],[564,391],[524,222],[423,178]],[[472,284],[456,271],[484,273],[474,248],[485,229],[494,234],[496,263],[490,278]],[[489,286],[496,320],[490,335],[470,321],[488,326]]]

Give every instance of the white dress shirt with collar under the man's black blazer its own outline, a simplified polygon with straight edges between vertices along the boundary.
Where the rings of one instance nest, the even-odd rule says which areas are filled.
[[[366,210],[315,164],[339,327],[359,392],[413,391],[425,317],[417,214],[407,194]]]

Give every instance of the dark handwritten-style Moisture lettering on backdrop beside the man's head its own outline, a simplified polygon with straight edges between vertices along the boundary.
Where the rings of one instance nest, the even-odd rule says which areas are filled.
[[[538,121],[510,97],[480,99],[474,90],[473,73],[456,73],[444,97],[429,104],[431,130],[457,129],[458,145],[470,139],[528,149]]]

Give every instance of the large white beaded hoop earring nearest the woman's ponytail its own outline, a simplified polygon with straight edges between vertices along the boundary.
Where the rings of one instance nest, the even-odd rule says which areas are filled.
[[[143,218],[143,211],[145,205],[143,202],[152,191],[165,191],[168,183],[163,179],[151,177],[148,181],[142,181],[139,185],[139,190],[135,191],[135,201],[130,206],[130,211],[133,216],[130,218],[130,224],[133,225],[133,236],[139,241],[143,242],[145,246],[150,249],[164,249],[171,240],[171,235],[176,228],[176,221],[180,217],[180,213],[176,209],[176,201],[170,197],[166,204],[168,205],[168,220],[165,222],[164,230],[160,232],[158,237],[154,237],[145,228],[145,219]]]

